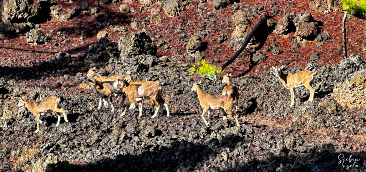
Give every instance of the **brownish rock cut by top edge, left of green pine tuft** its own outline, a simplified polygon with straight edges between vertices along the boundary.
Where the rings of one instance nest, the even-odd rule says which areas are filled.
[[[309,2],[309,8],[315,12],[332,12],[342,9],[340,0],[313,0]]]

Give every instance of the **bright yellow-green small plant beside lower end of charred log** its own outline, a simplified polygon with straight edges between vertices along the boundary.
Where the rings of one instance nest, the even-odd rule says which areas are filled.
[[[219,75],[222,71],[223,69],[221,67],[217,68],[215,65],[209,65],[206,63],[206,60],[201,60],[192,64],[192,67],[190,68],[191,74],[206,75],[211,80],[216,80],[216,75]]]

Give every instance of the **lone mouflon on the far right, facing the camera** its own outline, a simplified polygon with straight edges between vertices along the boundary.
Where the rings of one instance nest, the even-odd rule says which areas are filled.
[[[284,74],[282,71],[283,66],[281,67],[273,67],[271,70],[275,73],[275,76],[282,82],[286,89],[290,90],[291,93],[291,105],[290,107],[294,106],[295,98],[294,93],[295,89],[299,87],[306,87],[310,90],[310,97],[309,101],[314,100],[314,92],[315,90],[311,85],[314,81],[314,75],[316,72],[311,72],[309,70],[296,72],[294,74]]]

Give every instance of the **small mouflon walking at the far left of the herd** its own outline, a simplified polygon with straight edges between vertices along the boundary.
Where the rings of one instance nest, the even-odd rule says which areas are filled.
[[[34,133],[37,133],[40,130],[39,123],[42,124],[42,121],[40,120],[40,115],[45,115],[47,113],[51,113],[52,111],[57,112],[57,113],[62,113],[64,116],[64,119],[65,119],[65,122],[68,123],[65,110],[59,108],[60,102],[61,102],[61,99],[56,96],[48,97],[48,98],[45,98],[43,101],[35,102],[35,103],[32,103],[32,102],[28,101],[26,98],[22,97],[19,99],[18,108],[20,108],[22,106],[26,106],[26,108],[30,112],[32,112],[34,116],[36,116],[37,130],[34,131]],[[57,114],[57,117],[58,117],[58,119],[57,119],[56,127],[60,125],[61,116],[59,114]]]

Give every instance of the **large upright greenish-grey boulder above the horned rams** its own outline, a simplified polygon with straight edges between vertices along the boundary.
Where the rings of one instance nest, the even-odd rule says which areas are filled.
[[[156,55],[156,45],[145,32],[131,33],[127,37],[118,37],[120,56]]]

